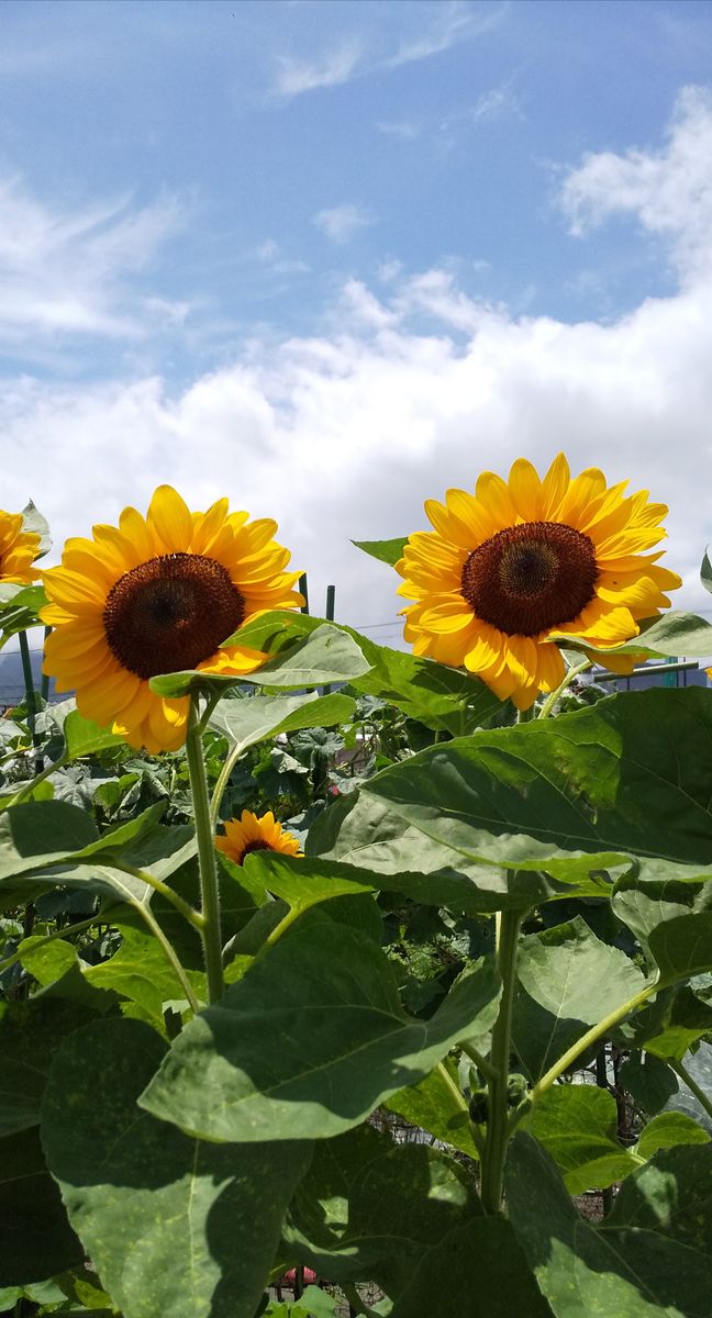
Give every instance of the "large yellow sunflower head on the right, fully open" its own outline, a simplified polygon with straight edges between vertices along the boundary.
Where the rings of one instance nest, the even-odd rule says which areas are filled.
[[[402,610],[414,652],[464,666],[529,709],[564,676],[552,635],[603,650],[637,637],[682,583],[645,552],[665,536],[667,507],[626,485],[608,488],[595,467],[572,478],[559,453],[543,480],[519,457],[509,482],[484,472],[473,494],[429,500],[434,531],[411,535],[396,564],[398,593],[415,601]]]

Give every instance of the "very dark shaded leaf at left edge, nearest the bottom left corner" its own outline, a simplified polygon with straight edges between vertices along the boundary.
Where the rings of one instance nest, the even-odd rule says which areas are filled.
[[[37,1128],[0,1140],[0,1286],[44,1281],[83,1259]]]

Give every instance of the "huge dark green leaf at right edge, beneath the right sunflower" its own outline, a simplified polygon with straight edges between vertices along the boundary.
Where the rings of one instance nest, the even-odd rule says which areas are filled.
[[[625,866],[709,876],[712,696],[699,688],[436,745],[364,784],[394,815],[479,862],[562,882]],[[665,863],[667,862],[667,873]]]

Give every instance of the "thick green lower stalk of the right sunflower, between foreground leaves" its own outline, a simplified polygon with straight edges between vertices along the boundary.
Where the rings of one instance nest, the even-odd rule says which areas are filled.
[[[480,1185],[483,1207],[489,1214],[498,1213],[502,1206],[504,1162],[509,1140],[506,1089],[521,923],[521,911],[501,911],[497,915],[497,963],[502,979],[502,1000],[492,1031],[489,1061],[493,1074],[488,1086],[489,1112]]]

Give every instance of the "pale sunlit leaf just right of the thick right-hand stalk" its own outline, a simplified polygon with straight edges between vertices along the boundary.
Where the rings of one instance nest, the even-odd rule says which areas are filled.
[[[596,938],[580,916],[522,938],[517,977],[512,1041],[531,1079],[646,982],[629,957]]]

